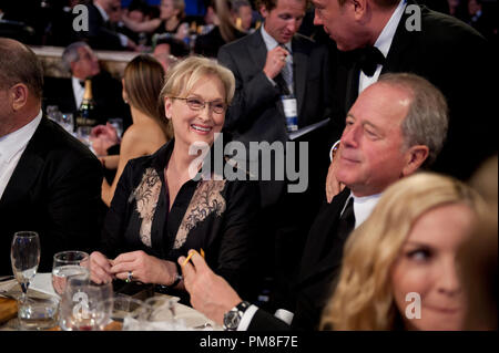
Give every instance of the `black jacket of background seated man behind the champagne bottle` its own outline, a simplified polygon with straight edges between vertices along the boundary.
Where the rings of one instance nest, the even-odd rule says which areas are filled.
[[[130,107],[123,102],[121,82],[108,72],[101,71],[92,77],[92,94],[99,124],[105,124],[111,117],[123,118],[123,126],[131,125]],[[43,105],[58,105],[63,113],[78,114],[71,79],[45,77],[43,86]]]

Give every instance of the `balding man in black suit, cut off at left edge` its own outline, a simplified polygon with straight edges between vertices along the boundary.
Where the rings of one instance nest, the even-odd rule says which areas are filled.
[[[102,216],[96,157],[42,115],[43,69],[18,41],[0,39],[0,273],[11,273],[10,242],[21,230],[40,236],[39,271],[53,255],[94,249]]]

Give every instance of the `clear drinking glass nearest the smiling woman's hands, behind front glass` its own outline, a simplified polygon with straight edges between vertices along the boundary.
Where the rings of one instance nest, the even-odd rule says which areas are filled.
[[[55,293],[62,295],[68,278],[72,276],[90,277],[90,257],[84,251],[61,251],[53,256],[52,287]]]

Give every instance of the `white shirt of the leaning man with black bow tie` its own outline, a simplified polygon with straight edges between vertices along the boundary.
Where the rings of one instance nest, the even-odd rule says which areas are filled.
[[[394,41],[395,32],[397,31],[398,22],[404,14],[404,10],[406,9],[407,0],[401,0],[398,7],[395,9],[391,18],[385,24],[381,33],[376,40],[374,46],[379,49],[381,54],[387,58],[388,52],[390,51],[391,42]],[[360,71],[360,76],[358,79],[358,93],[363,92],[369,85],[378,81],[379,75],[381,73],[383,65],[378,65],[375,74],[373,76],[367,76],[363,71]]]

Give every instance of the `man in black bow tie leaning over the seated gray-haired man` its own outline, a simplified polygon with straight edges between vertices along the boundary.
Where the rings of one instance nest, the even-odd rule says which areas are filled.
[[[489,125],[497,89],[490,46],[471,27],[415,0],[313,0],[315,24],[338,49],[335,122],[380,73],[413,72],[435,84],[449,104],[449,134],[435,172],[466,179],[497,152]],[[333,141],[339,131],[333,132]]]

